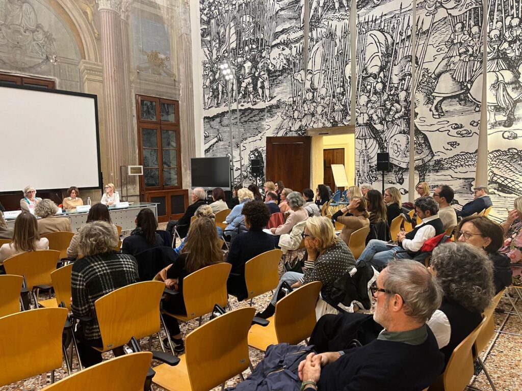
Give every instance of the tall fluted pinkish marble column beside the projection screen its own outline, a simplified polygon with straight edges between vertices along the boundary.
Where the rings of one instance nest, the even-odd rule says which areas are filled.
[[[132,0],[98,0],[102,43],[103,92],[105,99],[105,153],[108,172],[105,183],[120,187],[120,166],[131,162],[136,146],[131,149],[132,103],[128,72],[129,41],[127,18]],[[134,159],[133,162],[134,163]]]

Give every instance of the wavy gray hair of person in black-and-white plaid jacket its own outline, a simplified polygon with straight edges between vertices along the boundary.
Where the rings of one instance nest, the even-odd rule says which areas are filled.
[[[84,256],[105,254],[118,245],[117,231],[101,220],[82,225],[78,232],[78,253]]]

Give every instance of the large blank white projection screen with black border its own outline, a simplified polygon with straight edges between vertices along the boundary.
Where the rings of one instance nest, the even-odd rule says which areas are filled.
[[[0,87],[0,192],[101,188],[97,96]]]

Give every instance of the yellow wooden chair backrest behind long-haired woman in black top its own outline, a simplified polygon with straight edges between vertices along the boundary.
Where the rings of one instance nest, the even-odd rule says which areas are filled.
[[[227,279],[231,268],[230,263],[221,262],[183,278],[183,300],[188,319],[212,312],[216,304],[223,308],[227,305]]]

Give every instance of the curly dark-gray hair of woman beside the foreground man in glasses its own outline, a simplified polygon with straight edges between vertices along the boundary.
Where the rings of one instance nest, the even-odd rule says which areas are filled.
[[[482,313],[495,294],[493,262],[468,243],[444,243],[433,250],[431,266],[447,300]]]

